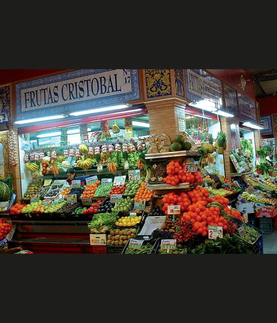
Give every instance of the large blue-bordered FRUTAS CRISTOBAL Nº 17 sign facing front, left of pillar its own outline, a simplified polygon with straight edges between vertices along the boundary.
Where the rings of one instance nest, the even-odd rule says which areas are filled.
[[[140,99],[138,70],[80,69],[15,84],[17,120]]]

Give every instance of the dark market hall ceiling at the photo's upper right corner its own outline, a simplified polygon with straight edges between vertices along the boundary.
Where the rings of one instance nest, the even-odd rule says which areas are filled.
[[[274,96],[277,94],[277,69],[246,70],[254,82],[256,97]]]

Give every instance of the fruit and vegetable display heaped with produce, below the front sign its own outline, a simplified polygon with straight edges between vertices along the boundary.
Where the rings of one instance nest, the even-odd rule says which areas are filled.
[[[73,167],[86,175],[71,185],[56,176],[38,181],[37,169],[29,170],[34,180],[22,203],[8,210],[14,226],[9,247],[33,253],[263,253],[263,230],[233,205],[246,197],[248,184],[205,165],[206,148],[186,133],[174,142],[164,134],[152,139],[116,142],[105,155],[107,172],[98,149],[102,167],[78,161],[91,158],[89,147],[81,147]],[[58,154],[50,156],[51,165],[61,163]],[[41,170],[45,154],[39,163]]]

